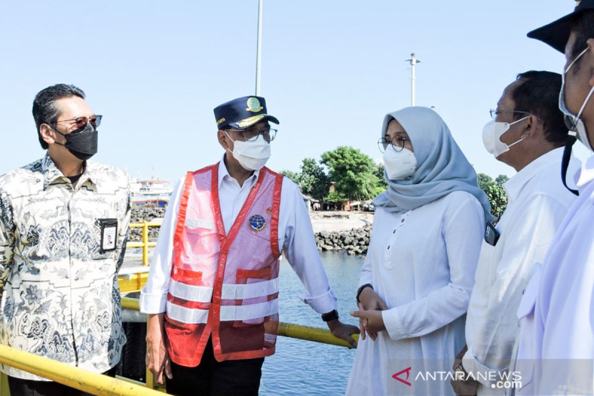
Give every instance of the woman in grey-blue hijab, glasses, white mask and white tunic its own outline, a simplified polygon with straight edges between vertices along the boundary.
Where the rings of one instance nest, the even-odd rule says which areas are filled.
[[[465,313],[491,207],[433,110],[389,113],[378,145],[389,187],[374,199],[357,292],[361,311],[351,313],[362,337],[346,394],[453,395],[447,373],[465,346]]]

